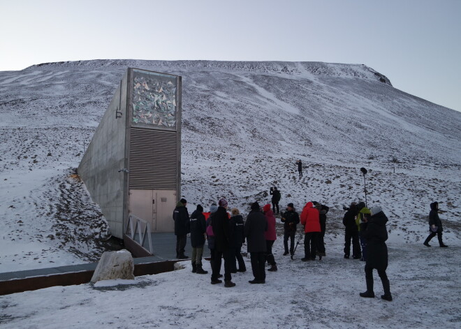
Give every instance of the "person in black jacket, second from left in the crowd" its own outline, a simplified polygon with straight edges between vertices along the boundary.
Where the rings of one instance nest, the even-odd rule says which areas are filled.
[[[203,246],[205,245],[205,231],[207,222],[203,215],[203,207],[197,205],[197,210],[191,214],[191,245],[192,245],[192,272],[197,274],[207,274],[202,268]]]

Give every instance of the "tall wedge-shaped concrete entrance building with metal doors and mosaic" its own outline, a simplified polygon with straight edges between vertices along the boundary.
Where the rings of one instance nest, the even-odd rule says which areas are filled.
[[[180,199],[181,77],[128,68],[83,156],[78,174],[124,238],[130,214],[152,233],[174,231]]]

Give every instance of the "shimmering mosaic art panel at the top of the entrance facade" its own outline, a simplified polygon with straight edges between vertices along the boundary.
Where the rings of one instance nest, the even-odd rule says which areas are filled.
[[[132,123],[175,129],[176,89],[171,75],[133,70]]]

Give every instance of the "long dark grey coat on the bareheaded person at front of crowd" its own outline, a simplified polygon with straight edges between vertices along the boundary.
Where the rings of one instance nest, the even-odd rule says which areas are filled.
[[[268,230],[268,221],[259,210],[251,210],[244,225],[247,237],[248,252],[265,252],[265,231]]]

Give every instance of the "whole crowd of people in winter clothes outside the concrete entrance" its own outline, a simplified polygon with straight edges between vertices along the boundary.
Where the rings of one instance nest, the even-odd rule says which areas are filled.
[[[254,279],[250,284],[265,283],[265,264],[268,263],[268,271],[277,271],[277,263],[272,254],[272,246],[277,239],[275,231],[275,211],[279,212],[279,191],[271,188],[272,209],[270,204],[262,209],[258,202],[251,204],[251,211],[247,221],[243,220],[237,208],[227,212],[228,202],[225,198],[219,200],[218,205],[212,205],[210,212],[203,212],[201,205],[193,212],[189,219],[186,209],[186,200],[181,199],[173,212],[175,220],[175,235],[177,235],[176,256],[180,259],[189,258],[184,255],[186,235],[191,233],[192,245],[192,272],[207,274],[202,268],[202,256],[205,240],[208,242],[211,254],[211,284],[220,284],[222,281],[221,258],[224,258],[224,286],[233,287],[232,274],[246,272],[246,266],[242,258],[242,244],[247,240],[248,252],[251,258],[251,270]],[[277,193],[277,192],[278,193]],[[275,196],[275,198],[274,198]],[[276,200],[276,202],[274,202]],[[430,205],[430,235],[424,245],[430,247],[430,240],[438,235],[440,247],[447,247],[442,242],[442,225],[439,219],[439,204]],[[281,222],[284,223],[284,256],[295,251],[295,235],[298,224],[304,226],[304,249],[305,256],[302,261],[314,261],[316,256],[321,259],[325,256],[326,214],[329,207],[317,202],[308,202],[302,209],[301,215],[295,211],[293,203],[288,203],[286,212],[281,214]],[[343,218],[345,227],[344,258],[349,258],[352,242],[352,258],[365,261],[365,282],[367,290],[360,293],[361,297],[374,297],[373,270],[378,275],[383,285],[383,300],[392,300],[390,283],[386,275],[388,267],[388,249],[386,240],[388,232],[386,223],[388,217],[379,206],[367,208],[365,203],[351,203]],[[205,239],[206,238],[206,239]],[[290,247],[288,249],[288,240]],[[238,268],[237,268],[238,264]]]

